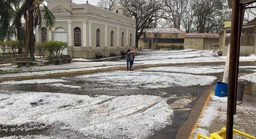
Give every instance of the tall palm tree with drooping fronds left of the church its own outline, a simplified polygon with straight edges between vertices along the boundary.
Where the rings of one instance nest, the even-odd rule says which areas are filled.
[[[42,16],[45,21],[45,27],[51,28],[54,26],[55,17],[52,15],[47,6],[43,3],[44,0],[0,0],[0,40],[8,40],[17,31],[17,38],[22,39],[22,22],[25,20],[25,52],[30,57],[34,56],[34,27],[39,25],[41,29]],[[15,8],[15,9],[14,9]],[[16,11],[15,11],[16,10]],[[10,25],[11,21],[13,24]]]

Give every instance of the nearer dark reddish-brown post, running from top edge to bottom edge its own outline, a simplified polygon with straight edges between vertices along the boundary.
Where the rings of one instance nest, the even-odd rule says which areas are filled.
[[[234,94],[235,94],[235,81],[236,81],[235,63],[237,58],[238,18],[239,18],[239,0],[232,0],[232,23],[231,23],[231,33],[230,33],[226,139],[233,138]]]

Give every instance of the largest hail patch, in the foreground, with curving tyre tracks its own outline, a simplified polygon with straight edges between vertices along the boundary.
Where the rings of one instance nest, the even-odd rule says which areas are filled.
[[[141,139],[172,124],[167,99],[0,91],[0,132],[58,126],[85,137]]]

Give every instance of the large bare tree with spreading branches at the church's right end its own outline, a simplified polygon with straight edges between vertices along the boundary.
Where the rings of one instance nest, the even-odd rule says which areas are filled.
[[[145,28],[163,17],[165,1],[163,0],[121,0],[127,9],[127,16],[136,20],[135,46],[138,47],[139,37]]]

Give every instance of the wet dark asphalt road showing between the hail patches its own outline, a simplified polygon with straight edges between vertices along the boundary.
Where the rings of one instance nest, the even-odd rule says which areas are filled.
[[[255,63],[241,63],[240,66],[255,66]],[[159,71],[158,71],[159,72]],[[240,70],[240,73],[248,73],[250,71]],[[170,72],[173,73],[173,72]],[[207,74],[209,75],[209,74]],[[210,74],[216,76],[220,81],[222,79],[223,72]],[[67,78],[72,78],[72,76],[65,76]],[[54,77],[58,78],[58,77]],[[60,77],[61,78],[61,77]],[[67,84],[76,85],[81,84],[81,81],[70,80]],[[188,136],[190,130],[193,127],[193,123],[196,122],[202,107],[205,103],[206,98],[209,93],[214,89],[215,84],[206,85],[206,86],[188,86],[188,87],[167,87],[167,88],[158,88],[158,89],[134,89],[134,90],[89,90],[83,88],[56,88],[56,87],[45,87],[38,84],[13,84],[13,85],[0,85],[0,90],[9,90],[9,91],[32,91],[32,92],[52,92],[52,93],[68,93],[68,94],[79,94],[79,95],[110,95],[110,96],[125,96],[125,95],[159,95],[161,97],[168,97],[170,95],[179,96],[188,96],[193,97],[194,100],[184,107],[186,110],[175,110],[173,117],[173,124],[167,125],[165,128],[162,128],[160,131],[154,131],[154,135],[149,136],[149,139],[170,139],[170,138],[181,138]],[[255,101],[255,86],[251,83],[247,83],[245,96],[252,96],[252,101]],[[159,92],[166,92],[167,94],[162,95],[158,94]],[[169,99],[168,104],[175,102],[177,98]],[[187,121],[189,119],[189,121]],[[185,125],[186,124],[186,125]],[[183,131],[179,131],[182,128]],[[185,128],[184,128],[185,127]],[[6,128],[0,124],[0,128]],[[183,133],[184,135],[181,135]],[[4,132],[0,131],[0,137],[10,136],[10,135],[59,135],[63,137],[68,137],[70,139],[83,139],[82,135],[77,135],[74,131],[70,130],[59,130],[57,127],[46,127],[43,130],[33,130],[33,131],[18,131],[18,132]]]

